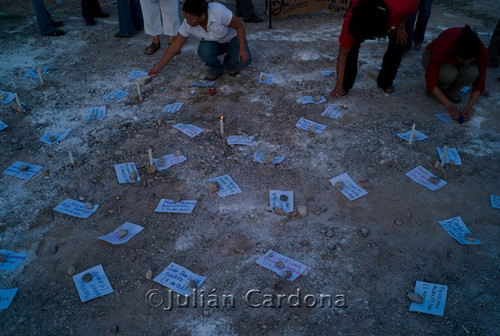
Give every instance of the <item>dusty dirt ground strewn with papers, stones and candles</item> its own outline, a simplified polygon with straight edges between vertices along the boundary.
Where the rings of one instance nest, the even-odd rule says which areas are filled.
[[[48,1],[67,33],[51,38],[38,34],[29,1],[2,1],[0,90],[17,92],[24,111],[0,104],[0,120],[8,125],[0,131],[0,170],[16,161],[43,166],[27,181],[0,176],[0,249],[27,253],[15,270],[0,271],[1,289],[19,288],[0,311],[3,335],[498,335],[500,210],[489,201],[490,194],[500,195],[498,69],[488,69],[491,95],[479,99],[469,123],[443,123],[434,115],[446,110],[425,94],[420,53],[403,59],[396,91],[384,94],[376,87],[376,67],[387,42],[369,41],[354,88],[334,100],[328,93],[335,78],[320,71],[335,69],[342,16],[320,12],[275,20],[273,29],[247,24],[253,62],[238,78],[219,78],[214,96],[208,88],[190,95],[190,83],[205,71],[190,39],[138,102],[127,75],[150,69],[164,47],[146,56],[150,37],[143,32],[114,38],[116,5],[101,3],[111,17],[88,27],[79,1],[61,7]],[[254,4],[264,16],[264,2]],[[487,45],[498,13],[495,0],[473,7],[435,1],[426,41],[468,23]],[[25,77],[35,65],[50,68],[43,87]],[[260,72],[274,74],[275,83],[259,84]],[[129,98],[101,98],[115,89]],[[302,105],[306,95],[328,102]],[[180,111],[163,113],[174,100],[184,103]],[[87,120],[89,108],[105,104],[105,119]],[[347,113],[322,117],[327,104],[346,104]],[[226,134],[255,135],[258,145],[228,146],[219,136],[222,115]],[[308,136],[295,127],[301,117],[326,125],[325,131]],[[189,138],[175,123],[204,132]],[[408,146],[396,133],[413,123],[429,138]],[[68,128],[58,144],[39,141]],[[442,173],[433,166],[436,147],[444,145],[457,148],[463,165],[447,165]],[[150,175],[149,148],[155,157],[180,151],[187,160]],[[260,165],[252,160],[256,149],[286,159]],[[118,183],[113,165],[126,162],[135,162],[141,181]],[[447,184],[430,191],[405,176],[418,165]],[[335,190],[329,179],[343,173],[368,194],[349,201]],[[219,198],[208,191],[207,180],[225,174],[242,193]],[[307,215],[270,212],[272,189],[293,191],[295,208],[305,206]],[[99,209],[87,219],[55,212],[66,198]],[[156,213],[162,198],[198,202],[192,214]],[[455,216],[482,245],[461,245],[438,223]],[[144,230],[123,245],[97,239],[126,221]],[[257,265],[270,249],[307,269],[289,282]],[[207,276],[200,288],[207,295],[233,294],[234,307],[152,307],[148,291],[164,298],[168,291],[145,274],[156,276],[171,262]],[[68,270],[78,274],[97,265],[114,292],[82,303]],[[416,281],[448,286],[444,316],[409,311],[407,293]],[[341,295],[345,304],[253,308],[244,300],[252,289],[262,291],[256,300],[299,289]]]

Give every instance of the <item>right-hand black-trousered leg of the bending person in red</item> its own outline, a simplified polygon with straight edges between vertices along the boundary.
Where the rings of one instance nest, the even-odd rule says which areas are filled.
[[[380,70],[377,78],[377,85],[388,93],[393,90],[391,90],[392,81],[398,73],[405,48],[405,44],[396,44],[396,34],[389,37],[389,45],[382,61],[382,70]]]

